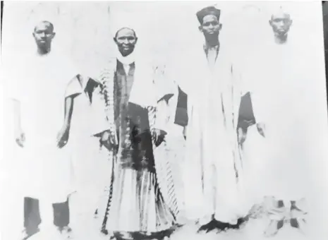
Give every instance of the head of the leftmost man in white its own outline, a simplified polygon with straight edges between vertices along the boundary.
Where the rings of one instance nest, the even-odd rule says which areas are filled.
[[[55,35],[54,25],[46,20],[38,23],[33,30],[33,37],[37,43],[37,48],[42,52],[49,52],[51,42]]]

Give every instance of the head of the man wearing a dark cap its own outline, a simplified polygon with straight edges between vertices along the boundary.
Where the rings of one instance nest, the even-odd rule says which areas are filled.
[[[200,22],[200,31],[204,34],[205,39],[219,37],[219,32],[222,28],[220,23],[221,11],[214,6],[202,8],[196,13],[198,21]]]

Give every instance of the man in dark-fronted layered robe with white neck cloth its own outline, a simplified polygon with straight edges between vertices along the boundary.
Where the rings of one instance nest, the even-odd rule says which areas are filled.
[[[138,37],[132,28],[116,29],[116,58],[99,76],[91,76],[100,83],[92,95],[102,96],[107,120],[99,137],[113,162],[107,208],[99,212],[104,217],[102,233],[116,239],[163,239],[173,230],[178,206],[175,196],[164,192],[170,173],[163,174],[166,169],[153,153],[164,134],[155,128],[154,78],[160,71],[144,56],[136,56]]]

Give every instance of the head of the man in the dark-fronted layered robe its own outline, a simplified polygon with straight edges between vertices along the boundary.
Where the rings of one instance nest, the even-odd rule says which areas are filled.
[[[128,56],[135,49],[135,44],[138,42],[138,37],[133,29],[121,28],[116,32],[114,41],[122,56]]]

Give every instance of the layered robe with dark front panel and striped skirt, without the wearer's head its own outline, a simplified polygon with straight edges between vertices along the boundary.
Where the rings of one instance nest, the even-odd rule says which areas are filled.
[[[125,72],[126,68],[123,68],[122,65],[124,63],[119,58],[110,59],[107,67],[102,70],[101,75],[97,78],[102,84],[100,94],[104,100],[111,140],[114,142],[114,148],[109,151],[109,159],[113,161],[114,167],[111,172],[109,200],[102,228],[107,229],[108,226],[116,234],[121,234],[122,232],[142,232],[143,234],[159,232],[172,227],[177,209],[174,208],[174,201],[169,200],[170,198],[175,198],[167,187],[171,186],[171,183],[168,181],[170,178],[167,177],[171,172],[166,168],[165,162],[154,160],[153,143],[143,145],[148,139],[151,140],[150,133],[152,133],[155,125],[157,96],[154,90],[154,77],[157,72],[156,68],[152,67],[152,64],[145,62],[143,59],[133,61],[133,65],[129,64],[130,71],[125,73],[125,75],[122,72]],[[131,68],[133,68],[133,72],[131,72]],[[123,93],[117,92],[118,89],[122,90],[125,88],[122,85],[125,83],[122,83],[121,80],[126,78],[123,77],[121,80],[118,80],[119,76],[123,76],[122,74],[126,78],[133,77],[133,84],[128,87],[130,90],[126,93],[128,95],[128,112],[130,112],[128,117],[132,117],[132,119],[137,117],[137,119],[131,119],[130,121],[142,121],[142,123],[140,122],[142,126],[145,123],[147,125],[147,122],[149,124],[148,127],[146,125],[142,127],[140,132],[140,136],[143,136],[141,137],[143,140],[141,139],[140,142],[140,153],[142,155],[145,154],[145,159],[142,157],[140,164],[135,163],[135,160],[138,159],[138,157],[133,157],[135,150],[132,150],[131,153],[132,160],[135,159],[132,165],[123,163],[126,160],[130,162],[129,157],[126,157],[129,155],[126,153],[126,150],[128,150],[126,140],[130,138],[124,137],[122,133],[123,131],[128,133],[130,130],[117,123],[119,121],[117,119],[117,116],[119,116],[117,112],[118,101],[121,101],[121,104],[122,101],[126,101],[121,98]],[[130,83],[126,84],[130,85]],[[119,85],[122,86],[119,87]],[[147,116],[142,113],[146,113]],[[128,126],[130,126],[130,129],[134,128],[133,125]],[[134,134],[133,132],[131,133]],[[132,145],[134,145],[133,138],[131,140]],[[115,147],[116,145],[118,148]]]

